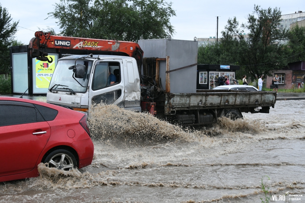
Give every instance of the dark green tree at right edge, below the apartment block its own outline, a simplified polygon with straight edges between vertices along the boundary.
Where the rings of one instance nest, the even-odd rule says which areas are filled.
[[[292,56],[289,62],[305,61],[305,27],[294,26],[287,33],[287,38]]]

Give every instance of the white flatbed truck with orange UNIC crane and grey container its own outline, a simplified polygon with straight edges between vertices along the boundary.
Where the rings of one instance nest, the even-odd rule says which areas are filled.
[[[28,53],[31,58],[52,62],[46,53],[50,49],[60,55],[47,102],[74,110],[85,112],[93,105],[106,103],[146,111],[181,125],[201,125],[215,123],[221,116],[241,118],[242,112],[269,113],[276,102],[275,92],[197,93],[196,38],[187,41],[169,37],[135,43],[52,36],[38,31]],[[144,54],[148,57],[143,58]]]

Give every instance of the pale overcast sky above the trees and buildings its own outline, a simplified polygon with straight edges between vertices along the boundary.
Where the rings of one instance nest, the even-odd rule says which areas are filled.
[[[60,31],[59,26],[55,23],[56,19],[46,19],[47,13],[54,11],[54,5],[58,2],[60,0],[6,0],[1,4],[2,8],[8,9],[13,21],[19,20],[16,39],[28,44],[34,37],[35,31],[39,30],[38,28],[46,29],[49,26],[56,32]],[[263,9],[280,8],[282,15],[297,11],[305,12],[304,0],[171,0],[171,2],[173,3],[172,8],[176,11],[176,16],[170,20],[176,31],[172,38],[179,40],[216,37],[217,16],[219,16],[218,37],[221,37],[221,30],[224,30],[228,19],[236,16],[239,23],[246,23],[248,14],[253,12],[254,4],[260,5]]]

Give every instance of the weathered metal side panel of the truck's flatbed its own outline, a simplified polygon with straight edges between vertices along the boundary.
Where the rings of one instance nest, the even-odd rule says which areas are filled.
[[[257,107],[274,108],[275,102],[275,92],[207,91],[206,93],[166,93],[164,114],[174,115],[178,110]],[[267,109],[263,113],[267,113]]]

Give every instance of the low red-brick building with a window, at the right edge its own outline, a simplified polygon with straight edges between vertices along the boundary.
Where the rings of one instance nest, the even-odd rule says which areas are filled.
[[[278,75],[280,81],[278,83],[278,89],[291,89],[304,87],[305,79],[305,61],[296,61],[289,63],[287,67],[282,70],[274,70],[273,76],[267,76],[265,80],[266,87],[272,87],[272,79],[275,75]]]

